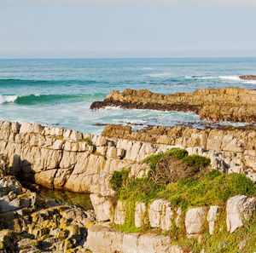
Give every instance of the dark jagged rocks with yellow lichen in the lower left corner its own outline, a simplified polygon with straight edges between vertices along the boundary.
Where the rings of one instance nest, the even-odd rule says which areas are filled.
[[[38,199],[8,175],[0,178],[0,196],[1,252],[86,252],[93,211]]]

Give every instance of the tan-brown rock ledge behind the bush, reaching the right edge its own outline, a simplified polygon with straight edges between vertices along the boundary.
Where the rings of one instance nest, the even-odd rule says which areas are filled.
[[[109,124],[102,135],[114,140],[147,141],[160,147],[182,147],[189,154],[210,158],[214,169],[246,174],[256,181],[256,127],[253,126],[204,130],[185,126],[154,126],[132,130],[129,126]],[[152,144],[148,148],[154,149]]]

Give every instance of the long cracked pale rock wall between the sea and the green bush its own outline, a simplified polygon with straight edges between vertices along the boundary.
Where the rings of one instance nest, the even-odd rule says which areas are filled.
[[[154,129],[149,135],[147,132],[131,132],[129,128],[108,129],[103,134],[110,137],[40,124],[0,121],[0,153],[8,161],[11,175],[21,176],[26,182],[102,196],[113,195],[109,178],[114,170],[131,168],[131,175],[141,177],[149,170],[148,164],[143,164],[144,158],[172,147],[185,147],[189,153],[208,156],[212,168],[225,173],[234,170],[246,173],[245,169],[248,169],[248,176],[253,179],[255,175],[256,139],[253,130],[212,130],[208,135],[207,131],[177,128],[170,131],[173,134],[165,135],[157,129],[154,138],[157,135],[159,138],[154,141]],[[207,143],[208,150],[202,143]]]

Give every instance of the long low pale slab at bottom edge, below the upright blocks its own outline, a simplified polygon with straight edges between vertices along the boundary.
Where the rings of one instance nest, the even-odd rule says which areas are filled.
[[[151,233],[121,233],[102,225],[90,227],[87,240],[93,253],[183,253],[180,246],[171,246],[168,237]]]

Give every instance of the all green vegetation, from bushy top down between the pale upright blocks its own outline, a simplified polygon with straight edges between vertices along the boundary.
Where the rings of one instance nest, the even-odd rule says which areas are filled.
[[[206,252],[253,252],[255,218],[254,223],[247,222],[236,233],[229,233],[225,224],[227,200],[238,194],[247,195],[247,197],[255,196],[256,185],[253,185],[253,181],[245,175],[222,174],[218,170],[210,170],[209,158],[198,155],[189,156],[188,152],[177,148],[150,156],[144,162],[149,164],[150,170],[143,178],[129,177],[130,170],[113,172],[111,185],[116,191],[117,198],[125,201],[125,224],[113,224],[114,229],[125,233],[151,231],[164,234],[171,237],[173,244],[182,245],[185,252],[199,253],[202,249],[207,250]],[[169,175],[166,176],[167,169],[172,167],[172,163],[184,173],[178,175],[175,180]],[[157,174],[158,177],[155,177]],[[148,222],[147,211],[143,214],[143,227],[135,227],[134,216],[137,202],[148,205],[157,198],[169,201],[174,210],[181,207],[183,210],[181,220],[184,220],[185,212],[189,207],[218,205],[220,215],[216,222],[216,233],[210,235],[208,227],[204,227],[201,231],[201,243],[199,243],[197,239],[189,239],[186,236],[184,222],[181,222],[182,227],[177,227],[173,221],[172,229],[164,233],[160,228],[152,230]],[[241,240],[246,240],[246,245],[242,250],[239,249]]]

